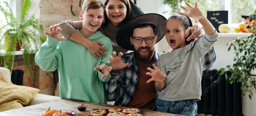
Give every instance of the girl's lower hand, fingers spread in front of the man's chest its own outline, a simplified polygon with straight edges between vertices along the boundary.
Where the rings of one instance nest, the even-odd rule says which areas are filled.
[[[156,82],[162,82],[165,78],[167,78],[167,75],[161,72],[155,64],[153,64],[153,67],[155,71],[151,68],[147,68],[151,73],[146,73],[146,75],[151,76],[152,78],[147,81],[147,83],[156,81]]]

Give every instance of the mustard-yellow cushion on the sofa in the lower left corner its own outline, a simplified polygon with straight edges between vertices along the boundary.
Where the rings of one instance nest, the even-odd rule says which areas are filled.
[[[11,83],[5,75],[0,72],[0,112],[21,108],[39,93],[40,89],[18,86]]]

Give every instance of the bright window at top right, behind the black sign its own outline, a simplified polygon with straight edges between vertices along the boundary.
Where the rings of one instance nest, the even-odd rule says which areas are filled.
[[[229,11],[228,24],[239,24],[244,21],[242,15],[256,10],[255,0],[196,0],[199,9],[207,16],[207,11]]]

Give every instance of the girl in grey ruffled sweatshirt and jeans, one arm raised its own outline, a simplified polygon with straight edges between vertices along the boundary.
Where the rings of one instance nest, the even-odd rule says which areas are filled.
[[[186,4],[189,9],[181,8],[188,13],[173,15],[166,21],[165,36],[173,50],[160,54],[157,66],[153,64],[155,70],[148,68],[151,73],[146,74],[152,76],[147,83],[155,81],[157,111],[194,116],[197,111],[195,100],[200,100],[201,96],[204,55],[218,40],[218,32],[197,8],[197,2],[195,7]],[[203,26],[205,34],[200,39],[187,40],[192,31],[186,30],[198,26],[193,26],[188,16]]]

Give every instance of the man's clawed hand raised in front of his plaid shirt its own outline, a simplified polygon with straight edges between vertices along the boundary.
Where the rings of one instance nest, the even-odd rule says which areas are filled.
[[[111,61],[108,60],[108,63],[110,64],[110,66],[112,66],[113,70],[121,70],[129,66],[128,62],[126,64],[122,62],[121,57],[123,55],[123,52],[119,52],[118,56],[116,56],[116,51],[113,51],[114,57],[112,55],[109,55]]]

